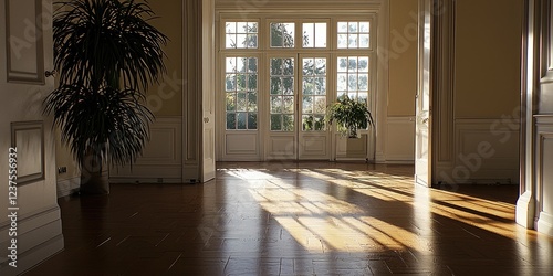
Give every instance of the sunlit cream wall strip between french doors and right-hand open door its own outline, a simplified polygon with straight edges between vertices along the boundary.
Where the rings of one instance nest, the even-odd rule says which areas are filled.
[[[389,1],[388,116],[415,116],[417,0]]]

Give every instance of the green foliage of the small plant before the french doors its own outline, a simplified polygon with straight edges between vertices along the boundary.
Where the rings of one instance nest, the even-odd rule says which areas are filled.
[[[336,121],[338,132],[348,138],[359,138],[361,129],[374,126],[367,104],[352,99],[347,95],[338,97],[336,103],[326,107],[325,120],[328,125]]]

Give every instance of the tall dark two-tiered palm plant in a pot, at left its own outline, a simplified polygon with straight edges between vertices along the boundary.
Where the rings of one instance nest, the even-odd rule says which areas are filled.
[[[45,98],[81,168],[81,191],[108,193],[107,166],[134,162],[154,115],[144,89],[165,73],[167,38],[135,0],[69,0],[53,15],[59,86]]]

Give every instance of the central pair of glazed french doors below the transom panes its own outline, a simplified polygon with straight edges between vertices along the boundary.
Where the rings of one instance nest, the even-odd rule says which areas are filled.
[[[271,55],[267,159],[330,159],[328,55]]]

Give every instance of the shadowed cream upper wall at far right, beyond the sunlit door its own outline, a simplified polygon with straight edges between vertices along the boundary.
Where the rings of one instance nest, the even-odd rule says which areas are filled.
[[[456,118],[499,118],[520,105],[522,0],[459,0]]]

